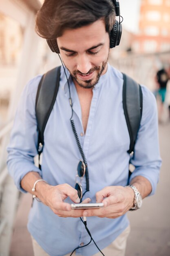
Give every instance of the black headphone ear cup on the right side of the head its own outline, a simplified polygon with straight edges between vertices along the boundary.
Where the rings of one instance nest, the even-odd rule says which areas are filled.
[[[119,24],[117,20],[115,20],[115,24],[113,25],[112,30],[110,31],[110,48],[113,48],[120,43],[122,33],[122,26]]]

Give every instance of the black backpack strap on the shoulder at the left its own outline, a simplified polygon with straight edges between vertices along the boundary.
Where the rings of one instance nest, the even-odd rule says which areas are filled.
[[[35,102],[35,114],[38,127],[38,154],[42,153],[44,145],[44,130],[53,109],[60,85],[60,67],[55,67],[42,76],[38,85]]]

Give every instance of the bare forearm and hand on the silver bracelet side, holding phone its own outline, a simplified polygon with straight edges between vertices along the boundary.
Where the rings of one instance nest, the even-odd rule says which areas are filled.
[[[27,173],[21,180],[22,189],[36,195],[43,204],[46,204],[51,210],[60,217],[82,217],[84,210],[72,210],[71,205],[63,202],[69,197],[74,203],[79,203],[79,197],[76,189],[68,184],[51,186],[45,181],[38,182],[35,191],[32,191],[33,184],[42,177],[36,172]],[[90,198],[86,198],[83,203],[89,203]],[[40,203],[41,204],[41,203]]]

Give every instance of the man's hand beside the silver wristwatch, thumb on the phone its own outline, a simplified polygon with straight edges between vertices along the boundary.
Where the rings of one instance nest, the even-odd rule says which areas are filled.
[[[133,201],[134,192],[130,187],[107,186],[96,193],[96,202],[103,202],[104,208],[86,209],[83,216],[117,218],[133,207]]]

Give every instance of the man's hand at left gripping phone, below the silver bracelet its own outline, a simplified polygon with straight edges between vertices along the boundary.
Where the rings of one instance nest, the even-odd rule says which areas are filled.
[[[70,197],[74,203],[79,203],[79,197],[77,190],[73,189],[72,186],[68,184],[61,184],[57,186],[48,186],[45,191],[46,196],[44,197],[44,203],[51,208],[51,210],[57,214],[59,217],[82,217],[84,210],[72,210],[71,205],[63,202],[64,199]],[[86,198],[83,203],[90,202],[90,198]],[[42,200],[43,202],[43,200]]]

